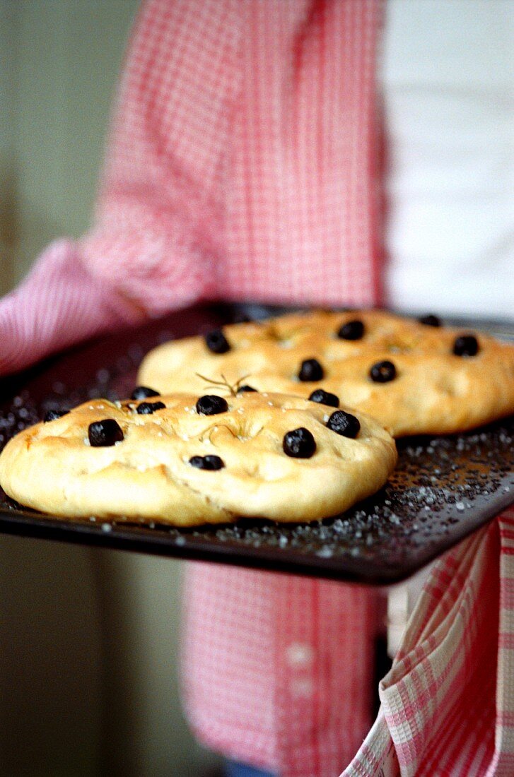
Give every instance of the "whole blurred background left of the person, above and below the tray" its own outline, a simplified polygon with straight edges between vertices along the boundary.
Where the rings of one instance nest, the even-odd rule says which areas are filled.
[[[0,0],[0,293],[89,224],[138,0]],[[0,775],[191,777],[182,565],[0,537]]]

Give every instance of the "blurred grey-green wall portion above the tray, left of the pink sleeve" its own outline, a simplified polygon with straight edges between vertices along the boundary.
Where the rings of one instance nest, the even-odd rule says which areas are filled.
[[[138,0],[0,0],[2,290],[89,225]]]

